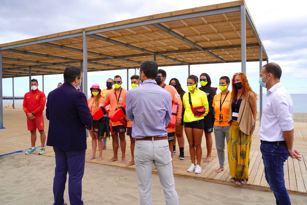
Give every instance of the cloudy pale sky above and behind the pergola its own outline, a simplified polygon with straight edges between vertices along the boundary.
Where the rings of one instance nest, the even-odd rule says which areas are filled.
[[[44,36],[88,26],[116,22],[163,12],[223,3],[223,0],[0,0],[0,44]],[[247,7],[269,56],[282,68],[282,83],[290,93],[307,93],[307,3],[306,1],[246,0]],[[263,65],[266,62],[263,62]],[[163,67],[168,82],[177,77],[185,86],[188,66]],[[212,86],[218,87],[222,75],[232,77],[241,71],[240,63],[192,65],[191,74],[208,73]],[[138,73],[138,71],[137,71]],[[94,84],[105,87],[105,80],[116,74],[122,76],[127,87],[126,70],[88,73],[88,88]],[[129,77],[134,74],[130,70]],[[251,87],[259,93],[259,63],[247,63],[247,76]],[[42,89],[41,76],[39,89]],[[45,93],[56,88],[63,75],[45,76]],[[29,91],[29,77],[14,79],[15,96]],[[129,85],[130,86],[130,85]],[[265,89],[263,89],[265,93]],[[3,95],[12,96],[12,79],[3,79]]]

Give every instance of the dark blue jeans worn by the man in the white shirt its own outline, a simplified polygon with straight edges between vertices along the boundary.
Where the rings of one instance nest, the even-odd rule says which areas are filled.
[[[284,179],[284,162],[289,157],[286,144],[262,144],[260,145],[264,173],[266,181],[273,191],[276,204],[291,204]]]

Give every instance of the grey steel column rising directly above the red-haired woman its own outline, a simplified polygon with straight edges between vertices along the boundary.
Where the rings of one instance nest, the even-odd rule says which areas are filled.
[[[246,74],[246,17],[245,5],[241,5],[241,71]]]

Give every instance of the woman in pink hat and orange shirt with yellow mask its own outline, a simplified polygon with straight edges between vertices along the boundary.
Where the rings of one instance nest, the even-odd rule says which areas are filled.
[[[98,84],[92,85],[90,91],[92,95],[87,100],[87,104],[88,108],[90,108],[91,114],[93,114],[98,108],[104,105],[104,98],[101,96],[101,89]],[[99,149],[99,156],[97,158],[97,161],[102,160],[103,141],[102,139],[98,138],[98,132],[99,132],[98,127],[99,127],[98,120],[93,120],[93,123],[91,125],[86,126],[92,138],[92,151],[93,151],[93,155],[88,160],[93,160],[96,158],[97,144]]]

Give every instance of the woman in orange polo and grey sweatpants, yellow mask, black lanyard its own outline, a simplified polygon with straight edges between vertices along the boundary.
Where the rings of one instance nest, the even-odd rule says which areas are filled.
[[[220,90],[222,92],[216,94],[213,97],[212,107],[215,112],[215,121],[213,125],[215,145],[217,150],[217,156],[219,157],[220,168],[216,172],[224,170],[224,159],[225,159],[225,139],[227,142],[229,133],[228,115],[229,115],[229,104],[231,98],[231,92],[228,90],[230,85],[230,79],[227,76],[220,77]]]

